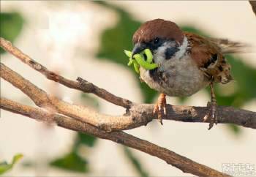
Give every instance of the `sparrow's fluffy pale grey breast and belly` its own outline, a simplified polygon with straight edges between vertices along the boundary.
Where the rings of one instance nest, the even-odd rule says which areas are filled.
[[[184,56],[181,59],[170,59],[154,70],[140,67],[142,78],[151,89],[171,97],[184,97],[195,94],[206,87],[209,80],[198,69],[195,61]]]

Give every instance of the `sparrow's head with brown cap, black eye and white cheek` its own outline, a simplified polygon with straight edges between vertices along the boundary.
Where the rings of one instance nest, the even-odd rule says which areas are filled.
[[[154,62],[162,64],[180,50],[184,43],[184,34],[176,23],[155,19],[143,23],[133,34],[132,42],[132,55],[149,48],[153,53]]]

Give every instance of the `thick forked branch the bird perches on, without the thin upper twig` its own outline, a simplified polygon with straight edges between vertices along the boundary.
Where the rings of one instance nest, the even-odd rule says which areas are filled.
[[[152,111],[154,105],[133,104],[123,116],[109,116],[97,113],[94,110],[81,105],[74,105],[64,102],[56,97],[48,95],[33,83],[29,82],[17,72],[12,71],[4,64],[1,64],[1,78],[12,83],[13,86],[28,95],[34,103],[50,110],[51,112],[61,113],[80,121],[84,121],[105,131],[117,131],[132,129],[148,124],[153,118]],[[249,110],[235,109],[231,107],[221,107],[218,109],[219,123],[232,123],[244,127],[256,128],[256,116]],[[203,122],[207,108],[191,106],[170,106],[167,105],[167,117],[165,119],[185,122]],[[235,116],[234,116],[235,115]]]

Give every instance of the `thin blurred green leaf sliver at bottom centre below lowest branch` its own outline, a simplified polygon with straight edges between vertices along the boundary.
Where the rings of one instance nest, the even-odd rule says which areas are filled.
[[[135,157],[135,155],[132,153],[132,151],[129,150],[129,148],[125,146],[124,154],[132,162],[133,167],[141,177],[148,177],[148,173],[146,172],[145,169],[143,169],[142,165],[140,164],[140,160],[137,157]]]

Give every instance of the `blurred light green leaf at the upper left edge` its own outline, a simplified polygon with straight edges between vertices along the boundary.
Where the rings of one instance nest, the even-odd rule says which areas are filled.
[[[1,12],[0,13],[0,36],[10,42],[14,42],[23,27],[24,20],[18,12]],[[4,50],[0,48],[0,53]]]

